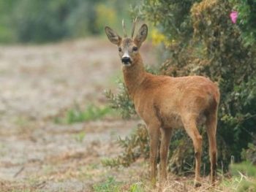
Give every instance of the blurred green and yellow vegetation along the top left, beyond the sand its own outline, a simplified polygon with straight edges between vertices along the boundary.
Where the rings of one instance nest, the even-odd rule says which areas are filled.
[[[52,42],[120,28],[129,4],[117,0],[0,0],[0,42]]]

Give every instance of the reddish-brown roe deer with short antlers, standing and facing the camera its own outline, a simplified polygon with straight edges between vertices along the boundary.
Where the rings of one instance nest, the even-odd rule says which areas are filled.
[[[124,37],[105,26],[110,42],[118,46],[124,83],[135,110],[146,123],[149,145],[151,184],[157,183],[157,156],[160,155],[159,183],[167,180],[167,154],[170,139],[175,128],[184,128],[192,139],[195,150],[195,187],[200,187],[200,162],[203,137],[199,126],[206,128],[211,162],[211,184],[214,185],[217,172],[217,111],[219,88],[203,76],[170,77],[146,72],[140,47],[148,35],[148,26],[140,26],[134,36],[136,20],[133,20],[131,37],[122,22]],[[161,138],[160,138],[161,137]],[[159,146],[159,140],[160,146]]]

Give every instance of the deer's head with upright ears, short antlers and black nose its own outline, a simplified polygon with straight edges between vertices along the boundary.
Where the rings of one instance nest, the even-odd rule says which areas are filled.
[[[105,27],[105,32],[110,42],[118,46],[119,56],[124,66],[132,66],[135,64],[136,58],[138,58],[139,55],[140,46],[148,35],[148,26],[143,24],[140,27],[138,34],[133,38],[135,23],[136,20],[133,22],[131,37],[127,37],[123,20],[124,38],[120,37],[112,28],[108,26]]]

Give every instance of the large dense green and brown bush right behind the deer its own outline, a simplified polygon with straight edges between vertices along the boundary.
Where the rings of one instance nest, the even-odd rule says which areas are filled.
[[[255,49],[248,45],[253,42],[244,39],[242,28],[233,24],[229,18],[234,2],[182,2],[144,0],[142,17],[158,26],[165,36],[162,38],[170,42],[165,48],[169,58],[159,67],[162,74],[174,77],[200,74],[211,77],[211,80],[219,84],[221,103],[217,129],[218,161],[222,161],[223,169],[227,171],[230,156],[234,155],[236,161],[241,161],[243,148],[247,148],[248,143],[255,138]],[[254,17],[252,12],[251,17]],[[132,104],[122,102],[122,99],[129,98],[127,92],[124,92],[125,88],[122,90],[116,95],[120,101],[118,106],[121,110],[129,106],[131,110]],[[201,129],[200,132],[204,138],[203,164],[209,169],[206,131]],[[130,138],[132,137],[135,136]],[[129,146],[134,146],[135,143],[129,138],[126,141],[129,143],[123,145],[125,153],[120,163],[125,161],[126,157],[127,161],[135,160],[129,158],[127,153]],[[189,169],[186,165],[189,165],[190,169],[193,167],[194,151],[189,146],[192,144],[187,134],[184,131],[176,131],[170,145],[171,171],[181,173]],[[144,155],[147,157],[148,151]],[[126,163],[127,165],[129,164]]]

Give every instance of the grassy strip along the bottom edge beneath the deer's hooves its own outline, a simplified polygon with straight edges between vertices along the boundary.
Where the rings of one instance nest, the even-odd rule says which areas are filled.
[[[255,192],[256,191],[256,168],[248,162],[241,164],[232,164],[228,172],[229,176],[219,175],[217,180],[219,182],[212,187],[208,178],[203,178],[202,186],[194,188],[193,177],[179,177],[169,175],[167,183],[165,183],[162,191],[176,191],[176,192],[194,192],[194,191],[219,191],[219,192]],[[222,179],[221,179],[222,178]],[[119,182],[115,177],[108,177],[102,183],[93,185],[95,192],[146,192],[158,191],[158,188],[152,188],[148,180],[129,181],[128,183]]]

